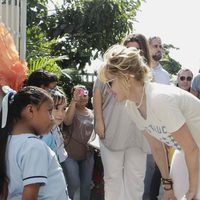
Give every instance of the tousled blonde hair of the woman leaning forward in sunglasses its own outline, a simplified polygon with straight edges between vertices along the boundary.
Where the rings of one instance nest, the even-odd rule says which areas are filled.
[[[129,74],[140,82],[145,82],[150,77],[149,68],[140,52],[134,47],[126,48],[123,45],[114,45],[106,51],[98,78],[105,82],[106,74],[123,79],[127,79]]]

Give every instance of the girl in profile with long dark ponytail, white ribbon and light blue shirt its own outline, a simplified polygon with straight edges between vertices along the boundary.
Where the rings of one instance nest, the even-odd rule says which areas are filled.
[[[0,117],[0,197],[67,200],[65,179],[55,153],[37,137],[52,127],[51,96],[30,86],[16,94],[9,88],[3,87],[3,91],[6,95]]]

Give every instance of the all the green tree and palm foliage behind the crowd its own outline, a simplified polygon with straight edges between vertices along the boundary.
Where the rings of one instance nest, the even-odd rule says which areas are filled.
[[[134,32],[136,14],[143,1],[64,0],[60,7],[54,5],[51,15],[48,0],[27,1],[30,72],[42,67],[57,73],[61,77],[60,85],[67,92],[71,83],[84,83],[77,75],[85,74],[85,65]],[[162,64],[170,74],[176,74],[181,65],[170,57],[171,49],[177,48],[164,45]],[[59,59],[62,56],[64,59]],[[62,73],[63,69],[67,71]]]

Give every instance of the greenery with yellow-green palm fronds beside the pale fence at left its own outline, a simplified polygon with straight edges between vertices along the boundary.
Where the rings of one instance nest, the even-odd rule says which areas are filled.
[[[46,36],[48,21],[48,0],[31,0],[27,2],[27,51],[29,74],[34,70],[43,68],[47,71],[61,75],[61,68],[57,61],[67,57],[52,57],[52,45],[57,43],[57,38],[49,40]]]

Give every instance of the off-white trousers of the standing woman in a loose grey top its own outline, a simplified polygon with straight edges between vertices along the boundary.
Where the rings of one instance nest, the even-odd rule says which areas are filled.
[[[141,200],[146,154],[139,148],[111,151],[100,142],[105,200]]]

